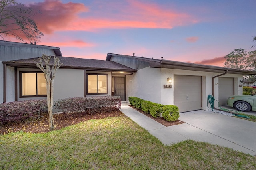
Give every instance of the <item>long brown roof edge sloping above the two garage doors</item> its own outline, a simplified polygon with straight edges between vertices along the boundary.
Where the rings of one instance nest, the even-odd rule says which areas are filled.
[[[228,73],[230,74],[256,75],[256,71],[239,70],[239,69],[231,69],[231,68],[218,67],[218,66],[212,66],[212,65],[184,63],[184,62],[165,60],[165,59],[136,57],[136,56],[120,55],[120,54],[112,54],[112,53],[108,53],[106,60],[111,61],[112,56],[126,57],[130,59],[138,60],[138,61],[145,61],[145,62],[148,62],[150,67],[153,67],[153,68],[183,69],[183,70],[205,71],[205,72],[214,72],[214,73],[224,73],[227,70]]]

